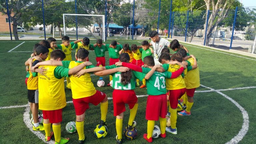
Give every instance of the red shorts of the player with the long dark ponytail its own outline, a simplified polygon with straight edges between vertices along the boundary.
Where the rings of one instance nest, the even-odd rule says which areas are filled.
[[[114,116],[125,112],[125,104],[129,105],[129,109],[132,109],[138,98],[134,90],[116,90],[113,91],[113,105]]]

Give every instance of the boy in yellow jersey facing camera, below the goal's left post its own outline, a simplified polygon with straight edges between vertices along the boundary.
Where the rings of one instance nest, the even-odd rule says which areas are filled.
[[[63,36],[61,38],[61,41],[62,41],[62,44],[60,45],[57,45],[56,46],[56,49],[61,49],[65,55],[66,55],[66,58],[64,59],[65,61],[72,61],[72,58],[71,58],[71,48],[78,42],[80,42],[81,40],[76,40],[74,42],[70,42],[69,41],[69,37],[68,36]],[[67,80],[67,85],[66,87],[71,89],[70,88],[70,80],[69,80],[69,77],[66,77],[66,80]]]

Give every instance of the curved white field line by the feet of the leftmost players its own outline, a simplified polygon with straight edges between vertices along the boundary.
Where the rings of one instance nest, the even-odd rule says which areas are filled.
[[[39,139],[41,139],[43,142],[47,144],[54,144],[55,142],[53,140],[50,140],[48,142],[45,141],[45,136],[40,131],[33,131],[33,125],[30,122],[30,115],[29,115],[30,108],[27,107],[25,109],[25,112],[23,113],[23,121],[25,125],[28,127],[28,129],[34,133]]]

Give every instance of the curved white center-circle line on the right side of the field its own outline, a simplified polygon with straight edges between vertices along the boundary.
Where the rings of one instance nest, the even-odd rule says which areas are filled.
[[[205,88],[209,88],[209,87],[206,87],[204,85],[201,85],[202,87],[205,87]],[[242,128],[240,129],[240,131],[238,132],[238,134],[233,137],[229,142],[227,142],[226,144],[237,144],[239,143],[243,137],[246,135],[246,133],[248,132],[248,129],[249,129],[249,116],[248,116],[248,113],[247,111],[241,106],[239,105],[235,100],[233,100],[232,98],[230,98],[229,96],[223,94],[222,92],[220,91],[216,91],[212,88],[209,88],[211,89],[212,91],[215,91],[217,92],[218,94],[224,96],[225,98],[227,98],[228,100],[230,100],[232,103],[235,104],[235,106],[238,107],[238,109],[242,112],[242,115],[243,115],[243,125],[242,125]]]

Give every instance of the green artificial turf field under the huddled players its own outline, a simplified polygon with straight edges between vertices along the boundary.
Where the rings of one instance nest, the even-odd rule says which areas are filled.
[[[142,40],[140,40],[142,41]],[[0,143],[41,144],[45,143],[44,131],[30,131],[29,107],[27,107],[27,87],[25,85],[24,62],[30,57],[35,43],[32,41],[0,41]],[[138,40],[119,40],[120,44],[137,44]],[[21,44],[23,43],[23,44]],[[91,41],[90,43],[95,43]],[[110,40],[105,43],[110,43]],[[19,45],[21,44],[21,45]],[[61,44],[57,41],[57,44]],[[19,46],[18,46],[19,45]],[[18,46],[17,48],[15,48]],[[165,139],[153,139],[153,143],[241,143],[252,144],[256,142],[256,58],[239,54],[232,54],[218,50],[212,50],[200,46],[185,45],[190,54],[198,59],[200,69],[201,86],[196,89],[194,105],[191,116],[179,116],[177,118],[177,135],[167,133]],[[15,48],[15,49],[13,49]],[[12,50],[13,49],[13,50]],[[11,52],[8,52],[12,50]],[[172,51],[171,51],[172,53]],[[74,59],[75,51],[72,52]],[[108,65],[108,52],[105,53],[106,65]],[[95,54],[90,51],[89,60],[96,65]],[[99,88],[96,85],[98,76],[91,76],[97,90],[112,97],[111,87]],[[109,77],[104,77],[105,83]],[[140,82],[141,84],[142,82]],[[72,100],[71,90],[65,88],[67,101]],[[136,87],[137,95],[146,95],[146,90]],[[145,119],[145,107],[147,97],[139,97],[139,106],[135,121],[137,121],[138,136],[135,140],[126,140],[124,143],[143,144],[143,133],[147,130]],[[10,107],[14,106],[14,107]],[[128,107],[126,107],[128,109]],[[123,128],[127,126],[129,110],[125,112]],[[69,137],[70,144],[77,143],[78,134],[69,134],[65,130],[68,122],[75,121],[73,103],[68,103],[63,109],[63,122],[61,123],[61,136]],[[93,130],[100,121],[100,106],[90,105],[85,114],[84,133],[86,143],[116,143],[115,117],[113,116],[113,103],[109,99],[107,114],[108,134],[104,139],[94,136]],[[26,123],[25,123],[26,122]],[[156,122],[159,126],[159,122]],[[28,128],[28,127],[30,128]],[[40,139],[41,138],[41,139]],[[124,138],[124,136],[123,136]],[[54,138],[53,138],[54,140]],[[239,141],[239,142],[237,142]],[[53,141],[49,142],[53,143]]]

